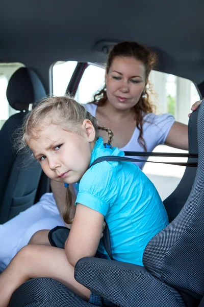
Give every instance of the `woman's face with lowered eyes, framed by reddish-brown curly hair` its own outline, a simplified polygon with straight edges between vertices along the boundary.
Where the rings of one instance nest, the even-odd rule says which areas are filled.
[[[132,57],[116,57],[105,80],[108,101],[116,109],[130,109],[145,89],[144,64]]]

